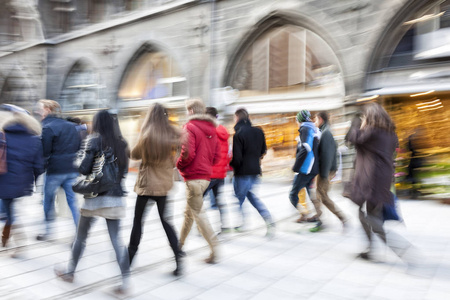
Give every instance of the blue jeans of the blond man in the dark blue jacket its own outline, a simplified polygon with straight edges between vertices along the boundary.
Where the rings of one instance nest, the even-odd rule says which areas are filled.
[[[50,223],[55,219],[55,194],[59,187],[62,187],[66,193],[67,204],[72,212],[73,221],[75,222],[75,226],[78,226],[80,214],[77,207],[77,198],[72,190],[72,185],[77,176],[78,173],[46,175],[44,184],[46,234],[50,233]]]

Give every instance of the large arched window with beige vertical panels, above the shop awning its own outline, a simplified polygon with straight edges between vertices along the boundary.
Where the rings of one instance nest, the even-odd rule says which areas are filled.
[[[241,97],[302,92],[332,84],[340,73],[328,44],[296,26],[273,29],[258,38],[236,70],[232,85]]]

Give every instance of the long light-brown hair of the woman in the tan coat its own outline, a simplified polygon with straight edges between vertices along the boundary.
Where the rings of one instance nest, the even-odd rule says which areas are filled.
[[[167,109],[159,103],[150,106],[139,135],[142,163],[158,164],[172,157],[181,143],[181,131],[169,122]]]

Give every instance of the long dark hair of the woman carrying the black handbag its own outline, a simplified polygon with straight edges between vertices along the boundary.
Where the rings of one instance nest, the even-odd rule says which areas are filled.
[[[92,131],[101,136],[103,150],[111,147],[119,168],[125,170],[128,167],[127,142],[122,137],[117,118],[107,110],[97,112],[92,121]]]

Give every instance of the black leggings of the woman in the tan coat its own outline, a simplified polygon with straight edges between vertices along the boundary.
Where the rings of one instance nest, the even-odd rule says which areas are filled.
[[[156,202],[156,205],[158,206],[158,213],[161,219],[161,223],[163,225],[164,231],[166,232],[167,238],[169,239],[170,247],[172,248],[173,254],[175,255],[175,260],[178,261],[179,255],[178,238],[172,225],[170,225],[166,221],[164,215],[166,209],[167,196],[138,196],[136,199],[136,206],[134,209],[134,221],[133,221],[133,229],[131,230],[130,245],[128,246],[130,264],[141,242],[142,225],[144,224],[142,218],[144,216],[145,207],[149,200],[154,200]]]

